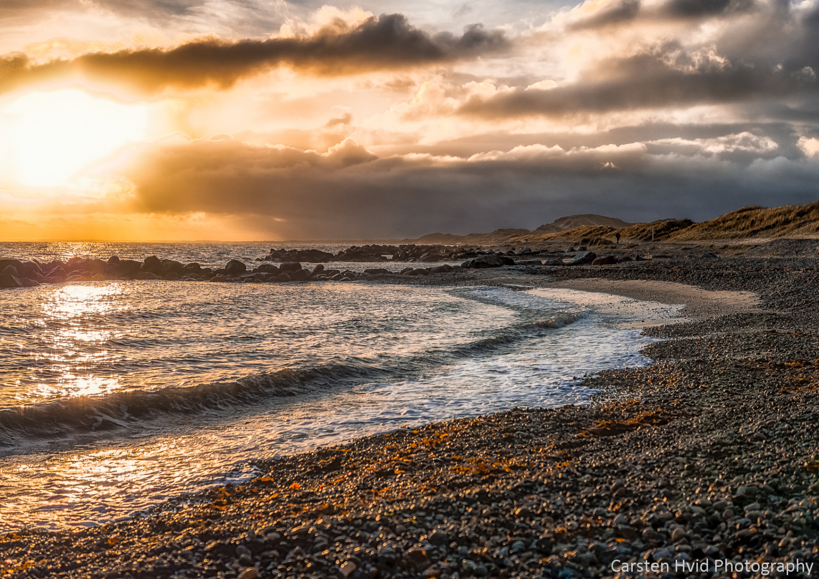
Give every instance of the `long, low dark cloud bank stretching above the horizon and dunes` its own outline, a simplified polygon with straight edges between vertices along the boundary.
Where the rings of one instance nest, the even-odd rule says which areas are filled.
[[[742,134],[705,144],[720,142],[758,147]],[[134,183],[132,210],[242,215],[256,226],[268,223],[279,238],[302,239],[536,228],[584,212],[630,221],[706,219],[740,205],[816,197],[815,163],[669,154],[686,151],[686,142],[656,147],[660,154],[640,143],[535,146],[442,161],[378,158],[351,141],[324,155],[197,141],[146,147],[126,174]]]

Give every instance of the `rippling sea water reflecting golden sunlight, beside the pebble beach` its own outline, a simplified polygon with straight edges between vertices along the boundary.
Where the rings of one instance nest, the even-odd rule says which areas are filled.
[[[271,247],[112,245],[0,251],[223,265]],[[568,290],[367,282],[2,291],[0,532],[130,517],[251,477],[255,459],[373,432],[586,404],[583,375],[648,362],[648,338],[629,326],[673,321],[679,309]]]

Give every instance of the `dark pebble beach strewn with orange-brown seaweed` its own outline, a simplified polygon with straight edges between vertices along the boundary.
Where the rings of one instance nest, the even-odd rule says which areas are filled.
[[[514,409],[263,461],[265,476],[189,506],[179,499],[87,531],[17,533],[0,542],[12,561],[0,572],[568,579],[613,576],[617,557],[812,561],[819,319],[809,306],[819,284],[815,260],[764,261],[531,268],[525,278],[544,286],[594,274],[586,287],[621,283],[636,297],[687,266],[701,292],[758,292],[764,307],[731,294],[739,305],[726,310],[715,300],[729,294],[687,290],[698,319],[647,328],[664,338],[645,349],[654,365],[587,380],[600,391],[588,406]],[[486,282],[475,273],[440,283]]]

